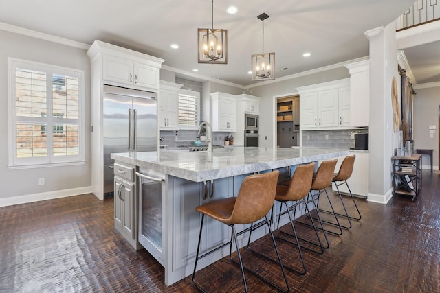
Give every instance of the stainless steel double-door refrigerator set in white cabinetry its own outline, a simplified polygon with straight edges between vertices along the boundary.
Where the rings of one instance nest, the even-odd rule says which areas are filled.
[[[113,192],[115,152],[157,151],[157,93],[104,84],[104,196]]]

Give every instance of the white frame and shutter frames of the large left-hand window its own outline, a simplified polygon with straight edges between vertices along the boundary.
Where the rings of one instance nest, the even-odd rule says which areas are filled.
[[[47,109],[44,119],[41,117],[17,116],[17,68],[41,71],[47,74]],[[78,119],[52,117],[52,75],[62,74],[78,78]],[[17,122],[39,124],[41,121],[49,122],[55,126],[62,124],[78,126],[78,154],[54,155],[53,137],[47,140],[47,156],[32,156],[19,158],[17,156]],[[46,124],[47,127],[47,124]],[[52,128],[51,128],[52,129]],[[47,134],[47,133],[46,133]],[[28,169],[38,167],[58,167],[63,165],[81,165],[85,163],[85,73],[80,69],[50,65],[43,62],[34,62],[19,58],[8,58],[8,167],[9,169]]]

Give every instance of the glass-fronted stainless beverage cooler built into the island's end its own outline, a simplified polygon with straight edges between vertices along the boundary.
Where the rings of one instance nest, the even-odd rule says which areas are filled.
[[[139,232],[138,241],[162,266],[165,265],[165,231],[162,215],[165,207],[165,174],[149,169],[139,169]]]

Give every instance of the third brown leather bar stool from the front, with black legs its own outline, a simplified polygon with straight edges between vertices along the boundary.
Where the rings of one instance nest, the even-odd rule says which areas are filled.
[[[324,233],[325,241],[327,242],[327,245],[324,248],[329,248],[329,240],[327,239],[327,233],[331,233],[334,235],[342,235],[342,227],[340,226],[338,217],[336,216],[335,210],[333,208],[333,204],[331,203],[329,194],[327,194],[327,190],[326,190],[326,188],[330,186],[331,180],[333,179],[333,172],[335,171],[336,163],[338,163],[338,159],[331,159],[331,160],[322,161],[322,163],[318,167],[318,170],[314,174],[314,179],[312,180],[310,192],[309,192],[309,195],[307,196],[307,200],[306,200],[307,203],[312,202],[314,204],[314,207],[316,210],[316,215],[318,218],[310,217],[310,220],[312,222],[314,220],[319,221],[320,227],[318,226],[316,228],[318,228],[319,230],[321,230]],[[314,193],[313,191],[316,191],[316,192]],[[322,220],[320,213],[319,213],[318,204],[319,204],[321,194],[325,194],[327,196],[327,200],[329,201],[331,210],[333,212],[333,215],[334,215],[336,223],[337,223],[336,226],[338,226],[338,228],[339,228],[339,232],[327,230],[324,228],[324,223],[326,223],[328,221]],[[306,222],[300,222],[300,221],[297,221],[297,222],[300,224],[305,224],[307,226],[313,226],[312,224],[309,224]]]

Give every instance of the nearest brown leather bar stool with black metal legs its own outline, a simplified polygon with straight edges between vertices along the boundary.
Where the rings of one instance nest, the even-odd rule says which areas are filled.
[[[276,242],[274,239],[274,235],[272,234],[272,230],[270,228],[269,221],[267,220],[267,213],[272,209],[274,205],[274,198],[276,192],[276,183],[278,181],[278,175],[280,172],[274,171],[264,174],[254,174],[247,176],[243,183],[241,184],[239,194],[236,197],[232,198],[223,198],[221,200],[214,200],[209,202],[208,204],[203,204],[197,207],[195,210],[201,213],[201,224],[200,224],[200,233],[199,233],[199,244],[197,245],[197,253],[194,264],[194,271],[192,272],[192,283],[201,290],[205,292],[203,288],[200,287],[195,281],[195,272],[197,270],[197,261],[202,257],[206,257],[210,253],[217,251],[225,246],[230,246],[229,257],[230,260],[236,263],[232,259],[232,242],[235,242],[236,252],[238,255],[239,263],[236,263],[241,268],[241,276],[243,278],[243,284],[245,288],[245,292],[248,292],[248,285],[246,284],[245,272],[247,270],[254,274],[259,279],[273,285],[278,290],[283,292],[288,292],[290,290],[289,283],[287,282],[285,270],[283,267],[283,263],[281,262],[281,257],[278,252],[278,248],[276,246]],[[204,253],[199,256],[200,251],[200,240],[201,233],[203,228],[203,219],[205,215],[208,215],[210,218],[222,222],[232,228],[232,235],[229,242],[218,246],[217,248],[213,248],[212,250]],[[261,220],[264,219],[264,220]],[[257,224],[254,222],[259,221]],[[236,233],[235,225],[236,224],[252,224],[249,228],[245,228],[243,231]],[[261,275],[256,274],[256,272],[252,272],[249,268],[243,266],[243,262],[241,261],[240,247],[237,242],[237,236],[243,233],[246,233],[251,230],[255,230],[261,226],[267,226],[270,231],[270,235],[272,238],[272,243],[274,244],[274,248],[276,250],[276,255],[278,256],[278,263],[281,266],[281,271],[283,272],[283,277],[285,279],[285,283],[287,289],[283,289],[280,286],[276,285],[272,281],[269,281],[263,278]]]

